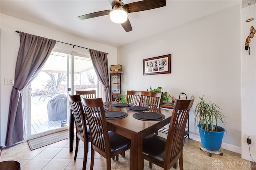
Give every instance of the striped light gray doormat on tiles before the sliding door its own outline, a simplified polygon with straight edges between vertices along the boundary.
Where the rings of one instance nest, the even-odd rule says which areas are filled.
[[[60,132],[48,134],[46,136],[30,139],[28,140],[28,145],[30,147],[30,150],[34,150],[46,146],[48,144],[53,144],[60,140],[64,140],[66,138],[69,138],[68,130],[63,130]]]

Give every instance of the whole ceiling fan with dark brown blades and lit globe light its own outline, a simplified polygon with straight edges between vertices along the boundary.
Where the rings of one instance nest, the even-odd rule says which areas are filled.
[[[128,13],[151,10],[154,8],[166,6],[166,0],[142,0],[138,2],[132,2],[130,4],[124,4],[122,0],[109,0],[109,2],[112,5],[111,10],[93,12],[90,14],[78,16],[77,18],[85,20],[110,14],[110,20],[115,23],[120,23],[124,30],[129,32],[132,31],[132,26],[128,19]]]

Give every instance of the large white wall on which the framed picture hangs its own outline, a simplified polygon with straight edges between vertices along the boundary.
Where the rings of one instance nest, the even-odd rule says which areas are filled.
[[[171,54],[171,74],[143,75],[142,59],[166,54]],[[118,63],[123,90],[151,85],[176,98],[181,92],[194,95],[195,103],[202,95],[210,97],[227,117],[222,147],[241,153],[240,6],[119,47]],[[190,136],[197,138],[190,115]]]

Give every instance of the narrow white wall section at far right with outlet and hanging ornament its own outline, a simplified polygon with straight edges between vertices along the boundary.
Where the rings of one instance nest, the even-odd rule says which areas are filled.
[[[245,22],[249,18],[254,18],[251,22]],[[249,50],[245,50],[245,40],[250,34],[251,26],[256,28],[256,4],[242,8],[241,10],[241,131],[242,131],[242,158],[247,160],[256,160],[256,36],[251,38]],[[245,142],[246,134],[252,137],[252,144],[249,146]]]

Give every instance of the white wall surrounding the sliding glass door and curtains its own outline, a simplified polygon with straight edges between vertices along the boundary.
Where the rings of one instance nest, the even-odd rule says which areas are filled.
[[[1,101],[1,115],[0,115],[0,141],[5,146],[8,110],[10,103],[11,85],[4,85],[4,78],[14,78],[16,59],[18,49],[20,47],[20,36],[15,30],[42,36],[45,38],[54,39],[60,42],[75,44],[78,46],[96,49],[109,53],[108,65],[116,64],[117,49],[109,45],[94,42],[85,38],[67,34],[48,27],[40,26],[31,22],[20,20],[5,14],[1,14],[1,52],[0,52],[0,101]],[[79,47],[75,47],[74,51],[79,51]]]

